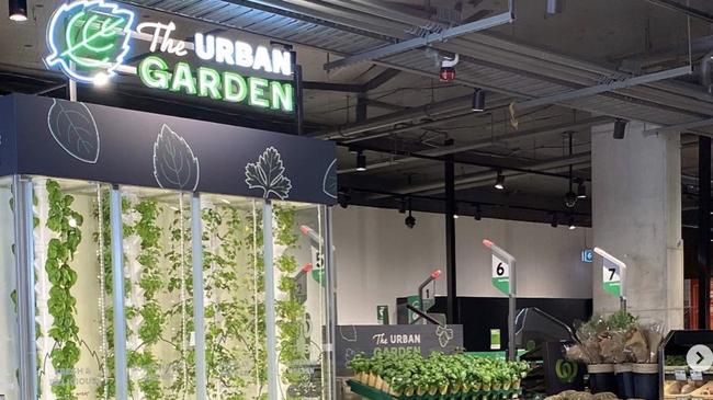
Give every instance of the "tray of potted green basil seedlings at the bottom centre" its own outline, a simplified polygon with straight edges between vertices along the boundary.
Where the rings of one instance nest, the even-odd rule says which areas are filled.
[[[380,353],[356,355],[349,367],[353,392],[372,400],[503,399],[521,392],[530,365],[467,354]]]

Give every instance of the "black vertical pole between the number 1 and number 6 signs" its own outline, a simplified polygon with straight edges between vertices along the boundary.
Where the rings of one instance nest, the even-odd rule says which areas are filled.
[[[459,323],[457,290],[455,272],[455,164],[453,157],[443,163],[445,176],[445,271],[446,271],[446,317],[448,323]]]

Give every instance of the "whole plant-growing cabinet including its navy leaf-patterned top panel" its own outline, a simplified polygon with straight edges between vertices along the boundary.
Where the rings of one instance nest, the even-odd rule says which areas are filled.
[[[0,135],[7,400],[332,398],[333,144],[27,95]]]

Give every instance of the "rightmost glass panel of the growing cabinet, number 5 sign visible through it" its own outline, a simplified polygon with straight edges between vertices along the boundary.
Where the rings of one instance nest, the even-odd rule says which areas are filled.
[[[280,399],[328,398],[326,207],[272,204]]]

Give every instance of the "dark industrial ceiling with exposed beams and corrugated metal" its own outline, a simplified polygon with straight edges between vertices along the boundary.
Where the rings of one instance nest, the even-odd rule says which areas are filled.
[[[273,38],[294,43],[306,82],[364,85],[380,80],[380,76],[389,73],[394,68],[400,71],[363,92],[325,90],[324,87],[305,90],[305,116],[310,135],[353,126],[364,117],[366,122],[387,118],[427,104],[467,96],[473,93],[473,87],[490,89],[487,98],[489,110],[486,113],[471,113],[467,106],[443,113],[427,111],[417,117],[355,135],[360,139],[350,141],[350,146],[363,149],[373,167],[365,173],[353,171],[355,158],[347,149],[348,140],[337,138],[344,145],[339,148],[340,185],[349,199],[358,204],[395,207],[399,205],[400,196],[389,197],[377,192],[398,192],[410,193],[414,198],[423,195],[415,206],[438,210],[439,202],[427,198],[441,196],[438,190],[427,194],[408,190],[442,181],[441,157],[421,155],[442,148],[448,140],[453,140],[455,146],[489,140],[455,155],[459,161],[456,179],[488,176],[498,169],[509,170],[508,191],[495,192],[488,183],[490,181],[483,179],[475,186],[468,184],[461,187],[459,199],[466,205],[493,204],[484,214],[494,217],[548,221],[551,212],[575,213],[581,224],[588,224],[588,202],[580,202],[575,209],[567,209],[564,205],[563,195],[568,188],[566,163],[557,163],[557,167],[546,170],[541,167],[551,165],[550,161],[567,156],[568,132],[573,132],[575,155],[590,151],[589,126],[576,126],[578,122],[602,114],[621,116],[618,114],[620,110],[629,113],[624,115],[627,117],[664,118],[652,121],[657,123],[690,122],[713,116],[713,102],[693,76],[569,102],[553,102],[518,113],[519,125],[516,128],[511,124],[507,107],[511,102],[596,85],[632,72],[650,73],[687,65],[689,41],[693,48],[691,59],[694,61],[706,50],[713,49],[708,21],[689,18],[680,10],[658,7],[653,0],[565,0],[564,10],[557,14],[545,12],[546,0],[516,0],[517,20],[513,23],[488,30],[486,34],[468,34],[435,46],[441,54],[448,53],[442,48],[462,48],[462,53],[469,57],[456,67],[459,80],[448,83],[440,82],[433,73],[435,64],[428,61],[433,53],[422,49],[330,71],[322,66],[342,56],[360,53],[360,48],[369,49],[422,34],[423,26],[457,25],[501,13],[507,9],[508,1],[125,2],[139,5],[137,10],[142,19],[174,20],[180,27],[178,36],[188,36],[196,31],[223,30],[252,43],[267,44]],[[58,1],[52,0],[30,0],[30,21],[18,24],[7,19],[0,20],[0,90],[36,93],[63,82],[59,75],[46,71],[42,64],[47,20],[58,4]],[[363,10],[381,10],[382,15],[349,9],[355,4],[363,5]],[[710,1],[691,0],[688,7],[713,14]],[[0,1],[0,15],[7,13],[5,8],[7,2]],[[420,27],[412,24],[406,26],[408,23],[385,23],[389,15],[386,9],[425,23]],[[253,19],[251,23],[246,22],[248,15]],[[372,20],[380,18],[382,20],[377,22],[381,24],[372,23]],[[302,26],[299,24],[314,25],[308,26],[309,35],[297,34],[297,31],[291,35],[290,28],[295,26],[296,30]],[[710,46],[706,47],[709,42]],[[137,54],[145,50],[142,47],[134,49]],[[500,75],[495,75],[496,71]],[[513,95],[516,90],[512,88],[516,87],[518,95]],[[65,95],[64,89],[50,90],[48,94]],[[291,132],[294,125],[291,118],[280,115],[265,118],[249,110],[236,111],[222,104],[186,101],[152,92],[142,88],[135,77],[124,77],[117,84],[101,91],[83,88],[80,94],[92,102],[237,125],[284,132]],[[607,102],[620,103],[611,110],[602,108],[601,105]],[[362,108],[365,115],[360,115],[358,103],[366,104]],[[539,130],[543,134],[537,134]],[[691,157],[691,152],[695,152],[694,147],[683,147],[682,151],[683,173],[691,174],[697,165],[697,160]],[[575,165],[577,179],[587,181],[589,173],[588,163]],[[495,204],[510,207],[496,207]]]

